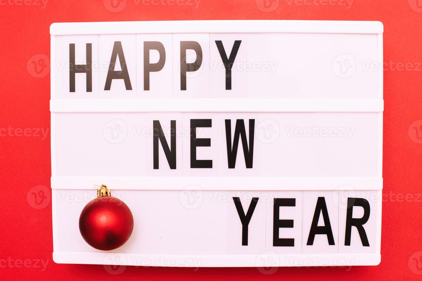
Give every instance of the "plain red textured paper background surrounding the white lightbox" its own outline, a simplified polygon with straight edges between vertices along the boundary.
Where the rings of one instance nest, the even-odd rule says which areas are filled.
[[[422,12],[416,5],[418,0],[354,0],[349,9],[347,4],[323,6],[308,0],[311,5],[296,5],[295,2],[289,5],[289,1],[281,0],[272,12],[261,11],[255,0],[201,0],[197,9],[188,5],[143,5],[142,0],[135,5],[134,0],[127,0],[127,6],[120,12],[108,11],[103,0],[49,0],[43,9],[41,0],[25,1],[41,5],[24,5],[22,0],[0,0],[0,129],[8,126],[50,128],[50,76],[36,78],[33,71],[27,70],[27,63],[36,54],[50,56],[49,26],[53,22],[378,20],[384,24],[384,62],[410,63],[409,66],[417,69],[387,67],[384,71],[383,192],[386,196],[382,206],[379,266],[353,267],[351,270],[279,268],[271,275],[263,275],[257,268],[200,268],[195,271],[192,268],[127,267],[120,275],[114,276],[102,265],[55,264],[52,260],[51,203],[35,209],[31,196],[27,199],[32,187],[50,187],[50,135],[43,139],[32,131],[32,136],[0,136],[0,276],[3,280],[108,280],[116,277],[127,280],[422,279],[422,275],[417,275],[422,271],[418,271],[413,260],[413,257],[419,259],[422,255],[419,252],[422,250],[422,203],[421,198],[418,199],[422,182],[422,144],[413,141],[417,138],[408,131],[412,123],[422,119],[422,67],[417,67],[422,61]],[[16,5],[19,3],[23,5]],[[50,196],[47,193],[45,200],[48,201]],[[27,259],[30,262],[27,261],[26,266],[20,263]],[[12,260],[11,264],[8,260]],[[38,268],[33,260],[48,262],[46,269],[43,270],[41,262],[38,263],[41,268]]]

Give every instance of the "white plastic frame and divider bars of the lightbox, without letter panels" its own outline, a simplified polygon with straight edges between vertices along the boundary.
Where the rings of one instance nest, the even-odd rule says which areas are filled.
[[[375,34],[378,37],[378,64],[383,63],[383,25],[378,21],[132,21],[89,22],[51,24],[51,188],[53,223],[53,259],[57,263],[114,264],[116,257],[122,265],[139,265],[138,258],[167,260],[198,259],[201,267],[255,267],[255,266],[344,266],[345,260],[352,265],[378,265],[381,260],[381,202],[376,213],[376,251],[371,254],[271,254],[238,255],[175,255],[141,254],[122,252],[62,252],[58,251],[57,221],[65,219],[57,215],[58,190],[88,190],[93,184],[107,183],[112,190],[145,190],[159,181],[160,190],[186,189],[186,182],[195,177],[60,177],[56,172],[56,112],[378,112],[378,166],[376,177],[203,177],[203,190],[219,190],[224,182],[231,189],[257,190],[257,183],[265,183],[265,190],[338,190],[348,182],[354,190],[382,191],[382,112],[383,73],[379,71],[376,99],[57,99],[56,98],[56,36],[59,35],[106,35],[106,34],[160,34],[160,33],[331,33]],[[167,184],[166,184],[167,183]],[[162,188],[168,186],[168,188]],[[124,187],[124,188],[123,188]],[[189,188],[189,187],[188,187]],[[153,190],[150,188],[149,190]],[[258,189],[259,190],[259,189]],[[75,233],[79,235],[79,233]],[[122,257],[124,256],[124,259]],[[283,257],[283,258],[281,258]],[[289,263],[293,258],[295,262]],[[276,263],[274,264],[274,261]],[[309,262],[312,261],[312,262]],[[195,266],[195,265],[169,265]]]

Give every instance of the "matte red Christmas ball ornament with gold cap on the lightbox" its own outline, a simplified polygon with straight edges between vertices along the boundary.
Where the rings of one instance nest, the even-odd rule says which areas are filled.
[[[79,231],[90,246],[110,251],[129,239],[133,231],[133,215],[122,200],[112,197],[107,186],[101,185],[97,198],[81,212]]]

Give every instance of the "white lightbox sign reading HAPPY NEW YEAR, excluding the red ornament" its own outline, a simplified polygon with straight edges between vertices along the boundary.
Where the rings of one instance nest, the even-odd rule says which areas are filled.
[[[52,24],[54,261],[379,264],[383,77],[368,65],[382,65],[382,32],[376,21]],[[71,63],[89,73],[72,78]],[[100,184],[133,213],[116,251],[78,229]]]

